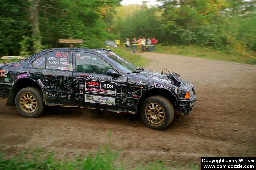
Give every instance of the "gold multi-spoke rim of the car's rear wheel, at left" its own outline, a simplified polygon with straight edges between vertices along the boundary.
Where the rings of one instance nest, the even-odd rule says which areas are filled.
[[[24,112],[32,114],[37,108],[36,98],[32,94],[23,94],[20,97],[20,108]]]

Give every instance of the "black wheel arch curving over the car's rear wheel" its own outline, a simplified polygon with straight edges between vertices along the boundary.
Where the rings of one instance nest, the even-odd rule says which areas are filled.
[[[33,85],[30,85],[30,84],[24,84],[23,82],[26,82],[26,81],[33,81]],[[24,85],[20,85],[20,84],[24,84]],[[5,105],[7,106],[15,106],[15,97],[16,97],[16,94],[18,93],[18,91],[20,91],[22,88],[26,88],[26,87],[40,87],[41,91],[42,91],[42,94],[43,94],[43,100],[44,100],[44,103],[47,105],[47,101],[46,101],[46,98],[45,98],[45,94],[44,94],[44,91],[42,89],[42,87],[39,85],[39,83],[30,78],[30,77],[26,77],[26,78],[21,78],[21,79],[18,79],[14,85],[12,86],[10,92],[9,92],[9,95],[8,95],[8,100],[6,102]]]

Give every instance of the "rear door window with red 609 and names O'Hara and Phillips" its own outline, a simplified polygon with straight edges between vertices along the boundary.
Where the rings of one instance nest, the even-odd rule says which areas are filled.
[[[47,53],[46,69],[69,70],[70,51],[51,51]]]

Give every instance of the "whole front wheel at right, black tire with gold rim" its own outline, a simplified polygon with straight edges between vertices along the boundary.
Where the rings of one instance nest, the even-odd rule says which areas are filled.
[[[166,97],[151,96],[142,102],[140,115],[142,121],[155,130],[164,129],[174,118],[173,105]]]

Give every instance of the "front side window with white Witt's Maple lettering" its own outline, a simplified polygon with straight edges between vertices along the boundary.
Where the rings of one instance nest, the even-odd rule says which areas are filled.
[[[76,52],[76,71],[83,73],[107,74],[112,67],[95,54]]]

